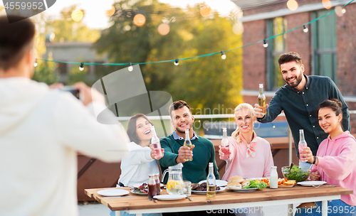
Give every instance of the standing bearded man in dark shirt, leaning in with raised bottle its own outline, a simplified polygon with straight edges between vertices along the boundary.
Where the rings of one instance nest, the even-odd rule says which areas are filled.
[[[284,53],[278,58],[283,79],[287,85],[279,88],[267,107],[267,113],[255,104],[254,112],[261,123],[271,122],[282,110],[292,131],[295,149],[298,149],[299,129],[304,130],[305,141],[316,155],[318,146],[328,138],[318,123],[317,109],[325,99],[336,98],[342,102],[342,126],[350,131],[350,112],[342,98],[340,90],[329,77],[304,74],[302,58],[298,53]],[[299,151],[297,156],[299,158]]]

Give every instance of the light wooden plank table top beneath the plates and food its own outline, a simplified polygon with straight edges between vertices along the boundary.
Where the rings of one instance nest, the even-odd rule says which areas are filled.
[[[293,188],[278,188],[270,189],[265,188],[262,190],[256,190],[252,192],[239,193],[233,190],[224,190],[216,193],[214,198],[207,198],[205,194],[194,194],[190,196],[193,200],[186,198],[182,200],[158,200],[153,202],[148,200],[147,195],[136,195],[129,193],[127,195],[117,198],[105,198],[102,195],[98,195],[98,190],[114,189],[114,188],[95,188],[85,189],[85,194],[90,198],[95,198],[98,202],[103,203],[113,211],[117,210],[142,210],[142,209],[155,209],[155,208],[169,208],[169,207],[189,207],[189,206],[202,206],[202,205],[225,205],[234,203],[246,203],[246,202],[264,202],[271,200],[288,200],[297,198],[313,198],[333,195],[346,195],[353,193],[352,190],[340,188],[337,186],[320,186],[319,188],[304,187],[295,185]],[[131,190],[132,188],[115,188],[123,190]],[[162,191],[162,194],[167,194],[166,190]]]

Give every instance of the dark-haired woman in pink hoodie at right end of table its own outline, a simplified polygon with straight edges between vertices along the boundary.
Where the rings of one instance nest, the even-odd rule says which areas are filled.
[[[342,129],[342,104],[337,99],[327,99],[318,110],[319,125],[328,133],[321,142],[316,156],[305,148],[301,157],[313,163],[310,180],[323,180],[330,185],[353,190],[341,195],[340,200],[328,202],[328,215],[356,215],[356,140]],[[321,215],[321,202],[302,203],[295,215]]]

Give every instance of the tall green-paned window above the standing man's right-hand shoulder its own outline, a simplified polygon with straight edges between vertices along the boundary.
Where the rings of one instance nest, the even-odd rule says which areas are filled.
[[[313,19],[329,11],[315,11]],[[330,77],[337,83],[336,15],[331,13],[313,23],[313,74]]]

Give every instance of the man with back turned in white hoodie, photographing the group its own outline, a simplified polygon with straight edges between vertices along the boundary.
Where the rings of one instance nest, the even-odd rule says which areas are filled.
[[[118,122],[96,120],[93,111],[105,109],[98,91],[75,84],[80,101],[31,80],[36,28],[29,18],[9,24],[0,16],[0,29],[0,215],[78,215],[77,151],[120,161],[127,134]]]

